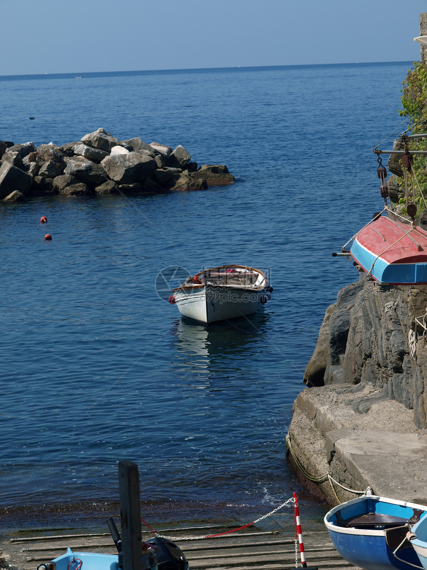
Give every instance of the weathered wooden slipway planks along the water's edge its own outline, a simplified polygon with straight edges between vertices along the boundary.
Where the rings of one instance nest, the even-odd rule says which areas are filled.
[[[232,526],[192,526],[165,528],[158,534],[173,538],[184,552],[190,570],[290,570],[295,568],[295,541],[293,530],[284,530],[279,525],[273,530],[262,530],[255,526],[236,532],[204,538],[207,535],[224,532]],[[151,533],[143,532],[143,540],[149,540]],[[192,537],[184,540],[183,537]],[[304,535],[307,565],[319,570],[339,570],[354,566],[343,560],[331,543],[327,531],[308,532]],[[35,570],[39,564],[60,556],[67,547],[73,551],[102,552],[116,554],[116,547],[109,533],[61,534],[26,536],[10,539],[3,543],[3,552],[9,555],[9,563],[20,570]],[[298,548],[298,567],[301,567]],[[82,568],[84,570],[84,568]]]

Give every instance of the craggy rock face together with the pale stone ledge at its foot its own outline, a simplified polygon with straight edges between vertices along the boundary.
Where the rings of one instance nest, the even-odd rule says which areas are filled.
[[[426,313],[426,286],[381,287],[363,273],[327,309],[286,439],[302,481],[329,503],[370,486],[427,505]]]

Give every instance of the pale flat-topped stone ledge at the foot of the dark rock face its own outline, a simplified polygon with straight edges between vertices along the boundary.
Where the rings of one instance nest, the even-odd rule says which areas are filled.
[[[412,410],[371,384],[306,388],[294,402],[291,448],[311,478],[329,473],[350,489],[427,504],[427,433]],[[326,480],[303,483],[330,504],[357,495]],[[337,500],[338,498],[338,500]]]

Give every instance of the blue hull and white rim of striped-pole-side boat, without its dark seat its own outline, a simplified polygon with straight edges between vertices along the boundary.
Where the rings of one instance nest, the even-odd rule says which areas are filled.
[[[420,567],[416,552],[409,547],[400,549],[397,557],[393,555],[393,549],[387,544],[385,526],[367,524],[366,528],[353,528],[346,522],[375,514],[389,521],[396,520],[395,526],[399,527],[416,516],[414,508],[422,512],[422,517],[427,514],[427,507],[421,505],[363,496],[331,509],[325,516],[325,525],[335,548],[351,564],[366,570],[413,570],[413,565]]]

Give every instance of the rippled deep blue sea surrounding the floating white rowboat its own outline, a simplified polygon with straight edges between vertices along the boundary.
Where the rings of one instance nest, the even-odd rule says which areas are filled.
[[[294,491],[325,511],[285,435],[325,310],[358,279],[331,253],[382,209],[372,148],[406,128],[411,66],[0,77],[1,140],[61,145],[102,127],[236,177],[0,203],[0,512],[116,502],[121,459],[139,466],[154,517],[173,503],[253,520]],[[268,271],[272,300],[210,328],[180,317],[170,268],[222,263]]]

